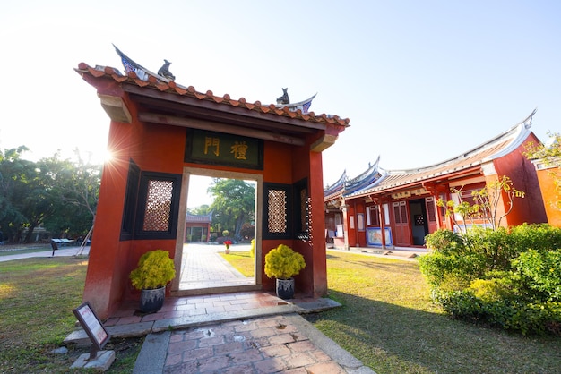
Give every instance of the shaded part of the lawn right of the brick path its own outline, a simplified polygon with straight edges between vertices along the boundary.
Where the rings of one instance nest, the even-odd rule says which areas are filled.
[[[330,297],[343,306],[306,319],[378,374],[561,372],[559,338],[509,335],[349,293]]]

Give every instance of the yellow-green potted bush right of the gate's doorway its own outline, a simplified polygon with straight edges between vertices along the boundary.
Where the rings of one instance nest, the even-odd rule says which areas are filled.
[[[294,297],[294,278],[306,268],[304,256],[288,245],[280,244],[265,256],[265,275],[276,279],[276,292],[280,299]]]

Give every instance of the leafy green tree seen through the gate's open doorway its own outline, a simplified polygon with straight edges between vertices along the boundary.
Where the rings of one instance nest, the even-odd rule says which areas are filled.
[[[220,230],[233,228],[234,237],[240,239],[243,225],[255,220],[255,186],[240,179],[216,178],[208,191],[214,196],[215,224],[220,224]]]

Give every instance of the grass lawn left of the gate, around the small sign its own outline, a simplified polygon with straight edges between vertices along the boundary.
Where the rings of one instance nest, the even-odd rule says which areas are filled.
[[[75,257],[0,262],[0,372],[72,372],[89,347],[61,346],[74,329],[72,310],[82,303],[87,261]],[[142,339],[111,339],[116,351],[108,373],[131,372]]]

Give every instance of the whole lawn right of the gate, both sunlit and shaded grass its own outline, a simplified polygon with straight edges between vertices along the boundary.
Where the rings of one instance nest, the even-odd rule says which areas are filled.
[[[416,262],[328,251],[327,269],[330,297],[343,306],[307,318],[378,374],[561,372],[560,338],[450,319]]]

